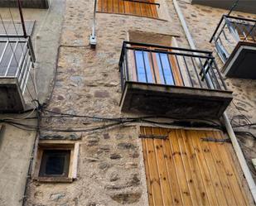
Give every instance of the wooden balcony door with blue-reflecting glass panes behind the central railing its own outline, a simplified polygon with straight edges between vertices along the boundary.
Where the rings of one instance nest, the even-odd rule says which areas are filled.
[[[152,46],[136,46],[131,50],[133,58],[133,81],[182,86],[181,71],[178,69],[175,57]],[[146,50],[139,50],[146,49]],[[150,50],[150,51],[147,51]]]

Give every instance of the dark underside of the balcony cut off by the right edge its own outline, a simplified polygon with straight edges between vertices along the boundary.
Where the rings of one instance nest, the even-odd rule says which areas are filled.
[[[256,79],[256,43],[240,41],[223,67],[227,77]]]

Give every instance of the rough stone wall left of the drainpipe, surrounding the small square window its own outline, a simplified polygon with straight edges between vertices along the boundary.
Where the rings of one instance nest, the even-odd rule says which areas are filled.
[[[48,109],[71,114],[123,117],[118,60],[128,31],[178,35],[186,39],[170,1],[166,20],[97,13],[96,50],[89,47],[94,1],[66,1],[56,87]],[[165,7],[163,7],[165,8]],[[169,18],[169,16],[171,16]],[[168,21],[167,21],[168,20]],[[86,119],[46,118],[41,126],[91,127]],[[138,127],[83,132],[78,178],[71,184],[31,181],[27,205],[147,205],[147,187]],[[43,134],[42,134],[43,135]]]

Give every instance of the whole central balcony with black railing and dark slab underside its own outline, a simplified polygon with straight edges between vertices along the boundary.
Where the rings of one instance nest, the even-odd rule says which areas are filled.
[[[232,100],[211,52],[124,41],[123,112],[219,118]]]

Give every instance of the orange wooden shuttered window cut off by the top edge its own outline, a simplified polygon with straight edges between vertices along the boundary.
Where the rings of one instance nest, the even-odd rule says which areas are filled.
[[[155,0],[98,0],[98,12],[158,18]]]

